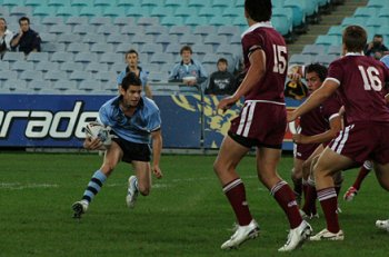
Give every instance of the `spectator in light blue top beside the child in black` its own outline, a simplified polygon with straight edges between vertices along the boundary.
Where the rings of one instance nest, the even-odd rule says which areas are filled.
[[[192,49],[183,46],[180,50],[182,60],[174,65],[169,81],[183,81],[188,86],[200,85],[207,80],[207,71],[202,65],[192,59]]]

